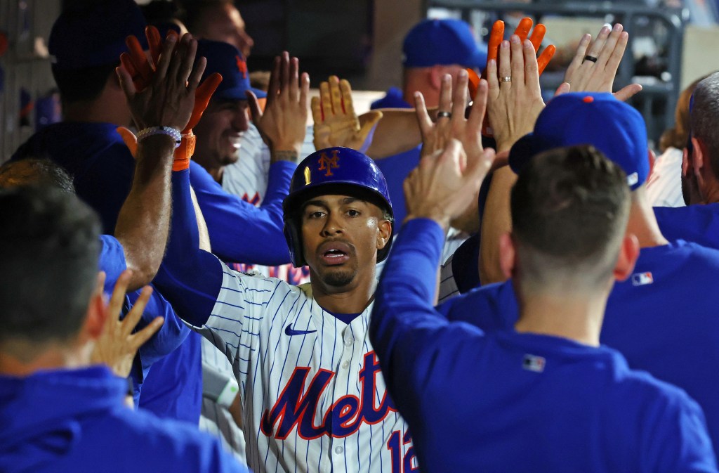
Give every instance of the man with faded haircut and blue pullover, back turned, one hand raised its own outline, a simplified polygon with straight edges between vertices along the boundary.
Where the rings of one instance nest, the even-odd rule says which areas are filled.
[[[434,310],[426,274],[493,157],[461,153],[452,140],[408,179],[370,319],[422,471],[717,471],[697,403],[600,346],[606,298],[638,246],[624,236],[626,175],[597,150],[536,156],[513,189],[503,251],[517,261],[516,330],[484,333]]]

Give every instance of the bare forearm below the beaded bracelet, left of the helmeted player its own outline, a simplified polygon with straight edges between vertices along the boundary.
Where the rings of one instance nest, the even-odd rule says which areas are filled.
[[[133,271],[129,290],[152,281],[165,253],[174,150],[174,141],[167,135],[147,137],[137,147],[132,189],[120,209],[114,232],[124,248],[127,268]]]

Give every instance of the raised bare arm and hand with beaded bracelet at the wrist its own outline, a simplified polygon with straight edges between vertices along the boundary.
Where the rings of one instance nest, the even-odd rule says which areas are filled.
[[[195,90],[204,70],[203,60],[193,66],[197,42],[186,35],[168,37],[152,83],[135,89],[129,72],[119,67],[120,84],[139,130],[168,127],[183,130],[195,103]],[[186,80],[188,84],[186,85]],[[165,253],[170,222],[170,170],[175,140],[166,134],[141,138],[135,153],[132,189],[120,209],[114,235],[122,243],[130,291],[149,284]]]

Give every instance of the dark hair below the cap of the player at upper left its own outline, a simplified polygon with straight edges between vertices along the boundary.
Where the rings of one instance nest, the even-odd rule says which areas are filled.
[[[115,73],[119,60],[80,69],[52,67],[52,77],[58,84],[60,100],[63,102],[85,102],[98,98],[104,89],[110,74]]]

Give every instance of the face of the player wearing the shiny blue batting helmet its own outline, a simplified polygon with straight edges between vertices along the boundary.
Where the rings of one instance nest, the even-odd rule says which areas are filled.
[[[323,195],[306,202],[302,242],[313,284],[323,284],[332,292],[370,284],[377,250],[384,247],[390,233],[382,210],[365,200]]]

